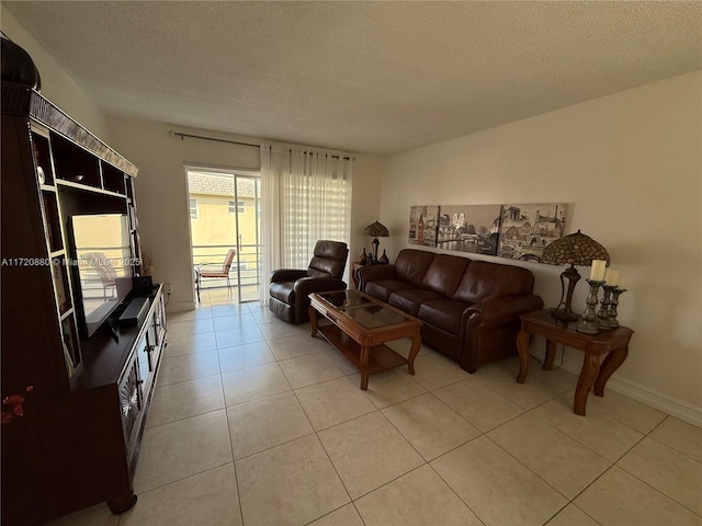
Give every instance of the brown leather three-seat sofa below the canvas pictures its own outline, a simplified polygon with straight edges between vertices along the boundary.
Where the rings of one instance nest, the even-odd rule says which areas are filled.
[[[422,342],[468,373],[517,353],[519,315],[543,307],[531,271],[405,249],[393,265],[358,270],[361,290],[422,321]]]

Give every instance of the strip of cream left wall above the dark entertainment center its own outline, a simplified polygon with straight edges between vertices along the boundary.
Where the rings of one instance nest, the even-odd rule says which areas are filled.
[[[110,144],[107,121],[100,107],[90,100],[83,90],[46,53],[38,42],[20,25],[16,19],[0,5],[0,23],[8,37],[30,54],[42,76],[42,94],[64,110],[68,115]]]

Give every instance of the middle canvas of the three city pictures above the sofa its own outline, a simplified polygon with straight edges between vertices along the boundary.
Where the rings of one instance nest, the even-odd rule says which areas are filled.
[[[441,206],[437,247],[497,255],[500,205]]]

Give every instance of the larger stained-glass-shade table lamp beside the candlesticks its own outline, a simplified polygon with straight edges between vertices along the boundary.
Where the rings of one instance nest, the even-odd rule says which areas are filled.
[[[552,312],[556,321],[563,325],[567,325],[569,322],[578,319],[578,315],[573,312],[570,306],[573,290],[580,279],[580,274],[575,265],[590,266],[592,261],[596,260],[605,261],[609,265],[610,254],[604,247],[578,230],[576,233],[564,236],[548,244],[544,249],[541,259],[545,263],[554,265],[570,265],[561,273],[561,301],[558,302],[558,307]]]

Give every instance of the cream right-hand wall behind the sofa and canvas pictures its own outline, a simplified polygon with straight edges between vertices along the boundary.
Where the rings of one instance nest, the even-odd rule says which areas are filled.
[[[383,178],[385,245],[408,247],[411,205],[569,203],[569,231],[601,242],[629,289],[619,320],[635,334],[608,386],[701,423],[701,94],[698,71],[395,156]],[[514,264],[554,307],[562,268]],[[565,366],[580,364],[569,350]]]

